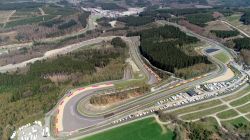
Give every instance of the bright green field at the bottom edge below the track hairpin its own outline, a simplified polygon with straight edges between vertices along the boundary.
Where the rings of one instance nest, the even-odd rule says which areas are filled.
[[[154,118],[136,121],[81,140],[173,140],[174,133],[162,128]]]

